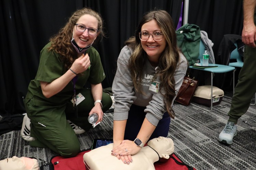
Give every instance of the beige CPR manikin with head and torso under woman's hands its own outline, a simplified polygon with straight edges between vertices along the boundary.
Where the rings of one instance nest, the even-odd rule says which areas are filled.
[[[143,147],[137,154],[132,155],[132,163],[129,165],[111,155],[112,149],[113,143],[85,153],[83,158],[87,169],[102,170],[108,167],[112,170],[154,170],[154,163],[159,160],[159,157],[160,159],[169,159],[169,155],[174,152],[174,144],[172,139],[166,137],[151,139],[147,146]]]

